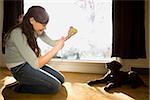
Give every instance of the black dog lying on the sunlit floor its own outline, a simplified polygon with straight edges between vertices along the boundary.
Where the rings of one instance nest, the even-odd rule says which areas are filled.
[[[128,84],[131,88],[137,88],[144,85],[143,80],[138,76],[135,71],[120,71],[122,64],[118,61],[111,61],[106,63],[108,72],[100,79],[88,81],[88,85],[106,83],[104,90],[109,92],[115,87]]]

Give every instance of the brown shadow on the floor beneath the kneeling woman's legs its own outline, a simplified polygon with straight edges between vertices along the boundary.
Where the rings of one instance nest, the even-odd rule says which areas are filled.
[[[66,100],[67,90],[62,86],[61,90],[56,94],[29,94],[17,93],[13,87],[5,87],[2,91],[4,100]]]

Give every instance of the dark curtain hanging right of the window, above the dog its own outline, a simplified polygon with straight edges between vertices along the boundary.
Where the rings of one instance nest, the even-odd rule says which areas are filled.
[[[113,0],[112,57],[146,58],[144,0]]]

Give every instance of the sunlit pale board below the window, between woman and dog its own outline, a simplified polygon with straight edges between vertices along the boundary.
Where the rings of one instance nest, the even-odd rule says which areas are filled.
[[[104,62],[51,61],[48,65],[64,72],[104,74],[107,71]]]

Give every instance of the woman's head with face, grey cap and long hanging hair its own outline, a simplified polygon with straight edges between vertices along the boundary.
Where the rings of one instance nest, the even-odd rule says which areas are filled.
[[[49,16],[46,10],[41,6],[32,6],[28,9],[23,17],[21,28],[23,34],[27,37],[27,42],[37,56],[40,55],[35,32],[41,35],[49,21]]]

